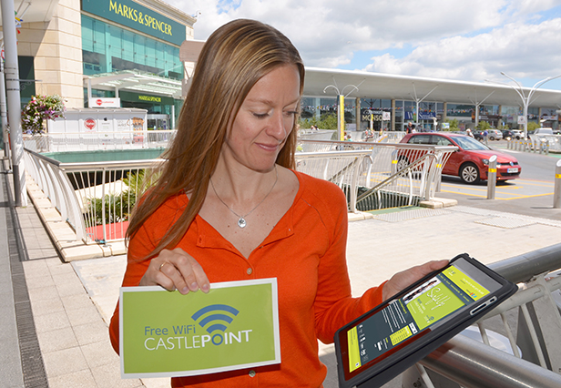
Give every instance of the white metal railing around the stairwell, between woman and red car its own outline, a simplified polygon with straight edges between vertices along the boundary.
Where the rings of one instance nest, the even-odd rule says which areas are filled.
[[[336,183],[347,194],[349,209],[354,212],[433,199],[442,168],[457,148],[302,140],[299,149],[307,152],[296,153],[297,169]]]

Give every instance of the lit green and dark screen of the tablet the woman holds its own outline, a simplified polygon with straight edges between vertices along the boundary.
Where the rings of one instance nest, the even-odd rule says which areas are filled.
[[[479,301],[500,284],[465,260],[455,260],[413,291],[382,305],[346,332],[346,379],[413,342],[454,311]],[[344,333],[342,333],[344,335]]]

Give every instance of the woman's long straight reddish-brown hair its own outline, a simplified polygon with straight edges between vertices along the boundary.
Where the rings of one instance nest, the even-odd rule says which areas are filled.
[[[240,106],[261,77],[279,66],[304,65],[291,41],[277,29],[254,20],[234,20],[219,27],[203,46],[189,93],[179,114],[178,132],[155,173],[156,184],[138,202],[128,224],[127,237],[135,236],[142,224],[166,199],[189,193],[188,206],[158,241],[147,258],[173,248],[189,229],[205,200],[209,179],[217,166],[220,148]],[[281,148],[277,163],[294,168],[297,120]]]

